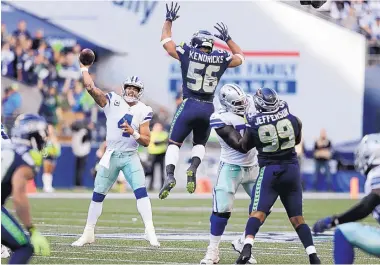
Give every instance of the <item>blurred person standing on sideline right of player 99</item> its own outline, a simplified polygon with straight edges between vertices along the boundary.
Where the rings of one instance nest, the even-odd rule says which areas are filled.
[[[328,189],[332,189],[332,180],[330,173],[330,159],[332,157],[332,145],[327,138],[326,130],[322,129],[320,136],[314,144],[314,159],[315,159],[315,187],[317,187],[317,180],[319,174],[324,175],[325,184]],[[324,172],[322,172],[322,170]],[[327,180],[327,183],[326,183]]]

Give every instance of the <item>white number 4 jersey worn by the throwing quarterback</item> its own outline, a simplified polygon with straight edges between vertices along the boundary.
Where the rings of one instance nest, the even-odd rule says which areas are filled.
[[[129,106],[120,95],[114,92],[108,93],[107,98],[108,103],[103,108],[107,118],[107,149],[121,152],[136,151],[139,144],[132,135],[123,132],[120,126],[126,121],[139,132],[140,125],[152,119],[152,108],[140,101]]]

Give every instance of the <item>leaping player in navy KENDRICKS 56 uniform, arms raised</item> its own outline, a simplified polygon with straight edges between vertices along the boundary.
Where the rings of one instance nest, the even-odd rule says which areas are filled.
[[[221,23],[215,28],[215,36],[227,43],[233,55],[223,50],[213,50],[213,35],[206,31],[197,31],[190,45],[181,43],[176,46],[171,39],[172,22],[178,16],[180,6],[172,3],[166,5],[166,21],[161,35],[161,44],[171,57],[181,63],[183,80],[183,102],[174,115],[166,151],[166,179],[159,198],[165,199],[176,185],[175,166],[178,162],[179,149],[185,138],[193,132],[193,149],[191,165],[187,169],[187,191],[196,189],[196,172],[205,155],[205,144],[210,135],[210,117],[214,112],[213,98],[220,78],[228,67],[236,67],[244,62],[243,52],[231,39],[227,27]]]

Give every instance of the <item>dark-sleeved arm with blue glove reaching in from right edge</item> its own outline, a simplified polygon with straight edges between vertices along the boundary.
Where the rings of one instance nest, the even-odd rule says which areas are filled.
[[[313,231],[323,233],[339,224],[359,221],[371,214],[378,205],[380,205],[380,189],[374,189],[347,212],[318,220],[313,226]]]

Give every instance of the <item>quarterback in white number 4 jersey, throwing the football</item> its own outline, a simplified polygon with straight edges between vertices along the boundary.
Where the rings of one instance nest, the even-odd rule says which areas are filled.
[[[107,117],[107,149],[96,173],[86,227],[83,235],[72,243],[72,246],[81,247],[95,241],[95,225],[102,213],[103,201],[122,171],[135,194],[137,210],[145,225],[146,239],[152,246],[158,247],[160,243],[153,226],[152,206],[145,187],[145,174],[137,154],[139,144],[145,147],[149,145],[149,122],[153,115],[152,108],[140,101],[144,85],[137,76],[132,76],[124,81],[121,95],[114,92],[104,94],[95,86],[88,73],[91,64],[83,65],[81,62],[83,82],[88,93],[103,108]]]

